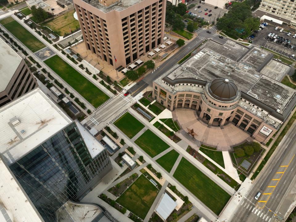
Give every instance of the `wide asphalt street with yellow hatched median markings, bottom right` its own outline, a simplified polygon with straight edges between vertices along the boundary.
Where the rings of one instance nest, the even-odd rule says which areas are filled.
[[[232,221],[282,221],[295,199],[296,125],[286,134],[269,165],[241,201]],[[257,192],[261,197],[254,199]]]

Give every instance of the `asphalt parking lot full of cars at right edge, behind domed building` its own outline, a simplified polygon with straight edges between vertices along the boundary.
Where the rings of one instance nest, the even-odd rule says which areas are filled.
[[[271,49],[275,52],[278,53],[282,53],[283,51],[283,55],[286,57],[291,57],[292,55],[296,55],[296,39],[293,38],[293,35],[295,34],[294,32],[291,33],[290,36],[287,36],[288,32],[286,32],[285,30],[280,32],[281,27],[278,26],[278,30],[274,30],[276,26],[274,25],[267,25],[264,29],[262,29],[259,33],[255,33],[256,36],[253,38],[253,44],[260,47],[260,46],[264,46],[265,44],[265,48]],[[259,29],[259,28],[258,28]],[[274,33],[275,35],[277,35],[277,37],[281,38],[283,37],[283,39],[288,39],[291,40],[290,44],[291,46],[295,46],[293,49],[289,48],[289,47],[285,47],[285,44],[287,42],[282,42],[282,44],[276,43],[274,42],[274,38],[272,38],[272,40],[269,39],[265,39],[265,37],[268,36],[269,33]],[[296,57],[294,57],[293,59],[295,60]]]

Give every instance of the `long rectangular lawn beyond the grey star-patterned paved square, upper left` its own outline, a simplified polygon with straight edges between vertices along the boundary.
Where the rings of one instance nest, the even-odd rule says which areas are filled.
[[[11,21],[4,24],[3,26],[32,52],[37,52],[38,50],[45,47],[41,41],[39,41],[17,21]]]

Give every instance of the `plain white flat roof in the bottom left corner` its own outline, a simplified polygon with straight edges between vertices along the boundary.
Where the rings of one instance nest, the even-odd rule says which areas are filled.
[[[0,221],[44,221],[1,158],[0,169]]]

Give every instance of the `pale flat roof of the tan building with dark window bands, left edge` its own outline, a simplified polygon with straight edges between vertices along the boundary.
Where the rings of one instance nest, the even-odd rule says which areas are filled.
[[[0,92],[4,91],[23,60],[18,53],[0,38]]]

